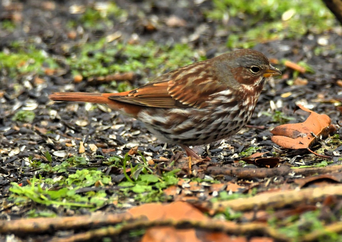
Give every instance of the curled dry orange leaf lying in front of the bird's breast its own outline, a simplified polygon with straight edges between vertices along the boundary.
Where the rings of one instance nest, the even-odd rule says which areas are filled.
[[[310,116],[302,123],[283,124],[275,127],[271,140],[277,145],[288,149],[308,149],[315,141],[315,136],[327,135],[330,130],[330,118],[298,105]]]

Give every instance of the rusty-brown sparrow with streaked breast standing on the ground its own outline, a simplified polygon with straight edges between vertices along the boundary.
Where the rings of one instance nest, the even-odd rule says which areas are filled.
[[[49,97],[106,104],[199,159],[189,146],[238,132],[250,120],[265,81],[280,74],[262,53],[244,49],[175,69],[132,91],[61,92]]]

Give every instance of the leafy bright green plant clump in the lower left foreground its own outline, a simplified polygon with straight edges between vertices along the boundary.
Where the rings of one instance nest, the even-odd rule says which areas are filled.
[[[45,205],[61,205],[66,207],[88,207],[94,208],[102,206],[104,203],[111,200],[107,197],[105,190],[97,191],[90,190],[84,193],[78,193],[78,189],[84,187],[92,187],[97,185],[113,185],[111,177],[105,175],[102,171],[95,168],[76,170],[75,173],[70,174],[69,167],[84,167],[88,164],[83,157],[74,156],[66,159],[60,164],[51,165],[52,157],[48,151],[45,152],[45,158],[49,163],[42,163],[39,161],[28,161],[32,167],[39,167],[39,172],[42,173],[59,173],[61,175],[54,178],[44,178],[39,175],[39,179],[32,178],[29,185],[19,186],[12,183],[10,191],[12,195],[10,199],[14,203],[19,204],[23,202],[34,201]],[[50,189],[54,185],[53,189]],[[57,185],[57,187],[56,187]],[[34,216],[33,213],[31,216]]]

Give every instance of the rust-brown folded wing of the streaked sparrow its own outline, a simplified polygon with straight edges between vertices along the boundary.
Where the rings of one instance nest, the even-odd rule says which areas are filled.
[[[168,72],[125,95],[108,97],[119,102],[158,108],[202,108],[213,93],[225,90],[206,61]]]

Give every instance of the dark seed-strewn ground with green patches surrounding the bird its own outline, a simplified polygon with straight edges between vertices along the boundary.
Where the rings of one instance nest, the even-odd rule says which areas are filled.
[[[279,167],[323,167],[326,173],[325,168],[340,165],[341,25],[318,0],[244,2],[0,2],[1,219],[117,213],[186,196],[211,202],[233,199],[232,192],[235,198],[254,196],[305,187],[307,180],[298,185],[295,178],[313,174],[291,176]],[[239,48],[261,51],[282,76],[266,83],[248,127],[223,142],[194,148],[211,161],[195,162],[192,169],[180,147],[161,143],[139,121],[105,106],[48,98],[57,91],[130,90],[177,67]],[[330,117],[335,130],[311,147],[328,157],[272,142],[274,127],[308,117],[303,110],[293,113],[299,104]],[[268,152],[260,154],[268,159],[261,164],[254,158],[241,160],[256,152]],[[231,167],[265,175],[224,170]],[[336,176],[319,179],[340,182]],[[216,193],[208,190],[214,184],[220,184]],[[312,210],[322,213],[319,206]],[[336,211],[329,216],[339,220]],[[232,214],[226,218],[244,220]],[[317,218],[328,223],[323,220]],[[127,233],[121,236],[128,238]]]

